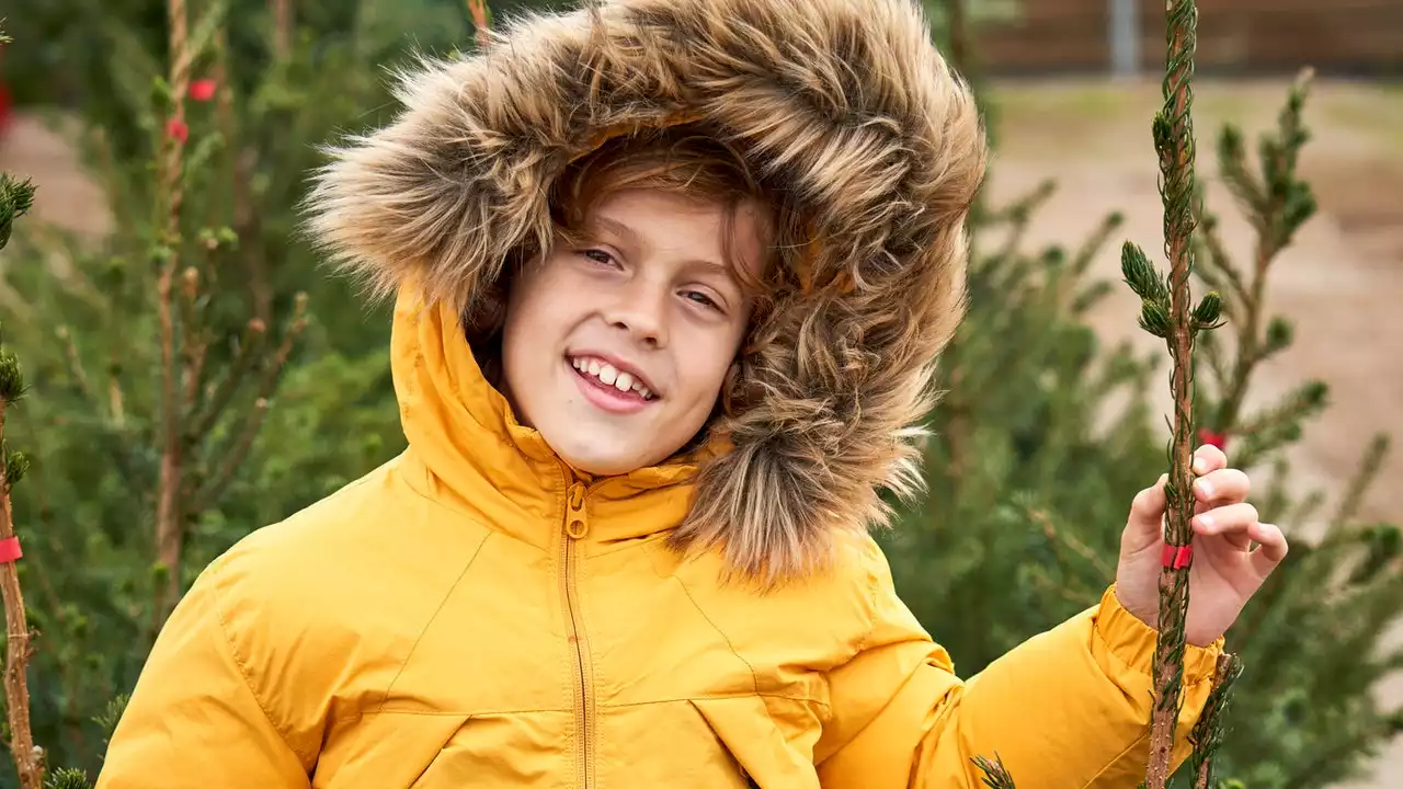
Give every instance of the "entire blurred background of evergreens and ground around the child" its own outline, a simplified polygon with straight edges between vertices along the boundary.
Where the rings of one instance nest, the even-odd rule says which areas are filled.
[[[490,6],[501,24],[570,3]],[[1169,359],[1120,279],[1124,241],[1167,271],[1164,6],[925,6],[995,156],[930,493],[882,539],[968,675],[1094,604],[1164,468]],[[0,171],[38,187],[0,251],[0,338],[31,387],[4,438],[31,460],[14,519],[52,765],[95,776],[213,556],[403,448],[389,316],[327,275],[297,202],[320,143],[393,117],[396,65],[473,53],[474,7],[0,0]],[[1229,633],[1244,672],[1221,775],[1403,786],[1403,3],[1198,8],[1194,289],[1225,295],[1226,324],[1201,340],[1194,427],[1294,541]]]

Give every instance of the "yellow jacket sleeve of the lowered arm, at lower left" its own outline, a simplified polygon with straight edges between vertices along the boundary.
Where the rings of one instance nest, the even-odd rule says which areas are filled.
[[[304,789],[304,761],[226,628],[219,564],[181,599],[112,734],[97,789]]]

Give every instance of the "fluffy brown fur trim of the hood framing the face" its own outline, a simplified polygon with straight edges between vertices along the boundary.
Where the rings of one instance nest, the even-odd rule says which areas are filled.
[[[678,546],[777,580],[919,486],[930,372],[964,310],[985,170],[974,100],[913,0],[612,0],[499,27],[401,74],[404,111],[331,150],[309,227],[389,293],[470,310],[553,233],[547,187],[612,135],[706,119],[810,219],[803,271],[741,359],[763,396],[714,430]]]

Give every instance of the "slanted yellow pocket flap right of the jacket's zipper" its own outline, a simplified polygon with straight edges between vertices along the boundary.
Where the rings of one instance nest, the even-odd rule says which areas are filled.
[[[814,760],[784,738],[763,698],[693,699],[692,706],[739,765],[739,786],[818,789]]]

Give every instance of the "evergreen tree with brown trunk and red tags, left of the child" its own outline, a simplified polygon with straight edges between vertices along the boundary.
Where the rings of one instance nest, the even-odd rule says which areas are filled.
[[[229,493],[296,484],[316,498],[337,483],[296,469],[283,482],[269,476],[286,473],[276,463],[250,463],[269,418],[302,420],[276,441],[335,456],[342,479],[369,465],[366,451],[352,446],[372,446],[372,432],[396,427],[394,409],[384,407],[393,396],[387,375],[375,369],[383,352],[366,362],[323,357],[321,373],[293,369],[303,392],[325,392],[335,386],[331,376],[345,385],[340,403],[321,397],[328,420],[342,418],[344,402],[376,393],[373,382],[383,380],[379,400],[351,423],[375,423],[373,430],[327,442],[316,439],[323,417],[306,425],[304,407],[275,413],[279,385],[297,366],[295,352],[311,326],[297,285],[324,277],[285,253],[295,237],[292,184],[314,160],[310,146],[286,149],[289,132],[317,119],[302,111],[307,102],[349,115],[355,84],[375,79],[369,66],[333,67],[331,74],[351,76],[321,84],[310,79],[314,58],[375,52],[347,45],[313,53],[304,38],[295,39],[293,52],[275,55],[283,59],[246,98],[222,6],[199,7],[210,10],[187,22],[185,3],[167,4],[167,65],[132,58],[119,66],[129,70],[130,115],[145,146],[119,153],[102,119],[88,119],[83,143],[112,197],[114,232],[91,239],[31,225],[7,250],[15,263],[6,279],[18,295],[6,302],[14,316],[7,343],[22,350],[41,393],[22,425],[35,465],[15,508],[35,528],[25,559],[36,592],[31,621],[43,635],[31,667],[34,733],[56,764],[97,767],[105,729],[97,713],[130,688],[195,573],[251,531],[247,512],[281,517],[297,505],[247,494],[230,505]],[[313,101],[297,90],[327,95]],[[331,118],[341,115],[321,119]],[[265,201],[276,209],[267,211]],[[342,310],[341,319],[354,324],[363,316]],[[337,316],[317,329],[338,329]],[[362,327],[359,337],[366,334]],[[383,348],[383,331],[373,334]],[[324,345],[325,334],[320,340]],[[372,449],[370,460],[380,462],[394,445],[377,441]]]

